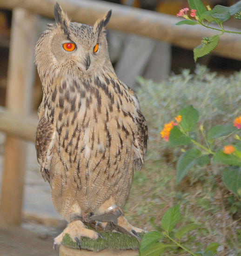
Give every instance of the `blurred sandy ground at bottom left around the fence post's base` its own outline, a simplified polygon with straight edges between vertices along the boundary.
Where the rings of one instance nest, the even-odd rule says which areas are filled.
[[[5,136],[0,133],[0,187]],[[0,256],[56,256],[53,239],[65,222],[54,210],[49,184],[40,174],[35,148],[28,143],[28,156],[20,227],[9,227],[0,219]]]

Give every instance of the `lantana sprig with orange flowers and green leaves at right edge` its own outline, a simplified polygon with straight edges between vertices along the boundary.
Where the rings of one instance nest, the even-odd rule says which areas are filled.
[[[241,197],[241,139],[236,134],[241,128],[241,116],[235,118],[233,124],[217,125],[207,132],[201,126],[199,129],[205,141],[203,145],[194,139],[198,111],[190,105],[182,108],[178,114],[176,125],[172,121],[161,131],[161,136],[169,141],[170,146],[192,145],[187,151],[182,149],[185,152],[177,162],[176,184],[181,182],[194,165],[205,166],[213,158],[212,161],[227,165],[222,170],[222,180],[230,191]],[[225,145],[223,139],[234,134],[238,142],[235,145]],[[220,140],[224,144],[223,148],[215,148],[214,140]]]

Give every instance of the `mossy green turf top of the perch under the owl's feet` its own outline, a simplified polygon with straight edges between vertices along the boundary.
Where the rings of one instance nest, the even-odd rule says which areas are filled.
[[[100,235],[103,237],[93,240],[87,237],[81,237],[80,244],[82,249],[92,250],[98,252],[103,249],[139,249],[140,243],[136,238],[127,236],[125,234],[114,233],[112,231],[105,232],[100,231]],[[145,232],[138,233],[137,235],[142,238]],[[67,247],[79,249],[77,243],[73,242],[68,234],[65,234],[62,240],[62,244]]]

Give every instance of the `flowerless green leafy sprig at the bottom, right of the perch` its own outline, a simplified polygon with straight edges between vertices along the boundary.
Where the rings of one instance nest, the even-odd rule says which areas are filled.
[[[181,238],[190,231],[198,228],[199,225],[190,223],[187,226],[182,227],[181,229],[178,229],[174,232],[174,227],[180,220],[180,218],[181,214],[179,204],[169,208],[161,219],[161,227],[162,229],[164,229],[164,231],[162,233],[157,231],[151,231],[145,234],[141,240],[139,256],[160,256],[168,247],[179,247],[191,254],[192,256],[214,256],[219,246],[218,243],[210,243],[204,251],[198,251],[196,253],[191,252],[189,249],[181,244]],[[174,233],[174,237],[178,240],[175,240],[173,236],[170,236],[171,231]],[[169,243],[162,242],[163,238],[168,238]]]

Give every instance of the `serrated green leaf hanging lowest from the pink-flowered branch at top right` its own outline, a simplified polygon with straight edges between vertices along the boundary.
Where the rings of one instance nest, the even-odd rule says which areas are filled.
[[[202,43],[201,45],[194,48],[194,61],[196,62],[198,58],[209,54],[218,44],[219,42],[219,34],[214,35],[212,37],[208,37],[210,41],[208,44]]]

